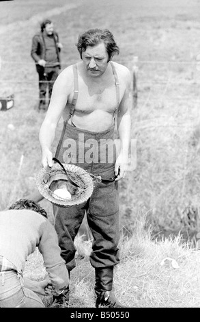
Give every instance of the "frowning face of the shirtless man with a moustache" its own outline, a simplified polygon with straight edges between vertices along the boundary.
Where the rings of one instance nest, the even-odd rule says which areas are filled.
[[[96,46],[87,46],[82,53],[83,64],[87,75],[91,77],[98,77],[102,75],[109,64],[109,55],[106,52],[104,42]]]

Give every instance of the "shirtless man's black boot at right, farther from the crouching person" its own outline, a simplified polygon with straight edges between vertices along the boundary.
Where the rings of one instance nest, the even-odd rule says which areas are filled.
[[[104,267],[95,269],[96,273],[96,308],[99,306],[106,306],[108,308],[125,308],[119,301],[117,301],[113,288],[113,267]]]

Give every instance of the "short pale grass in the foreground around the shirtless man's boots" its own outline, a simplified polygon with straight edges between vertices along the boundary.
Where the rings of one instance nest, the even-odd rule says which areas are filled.
[[[119,301],[129,308],[199,308],[199,250],[183,243],[180,236],[152,240],[150,232],[138,227],[131,238],[119,243],[121,262],[115,268],[114,289]],[[70,277],[70,307],[94,308],[94,269],[89,263],[91,240],[76,238],[76,268]],[[178,267],[172,266],[171,258]],[[34,273],[33,273],[34,272]],[[45,276],[42,256],[29,256],[25,275],[40,280]],[[51,307],[51,296],[42,297]]]

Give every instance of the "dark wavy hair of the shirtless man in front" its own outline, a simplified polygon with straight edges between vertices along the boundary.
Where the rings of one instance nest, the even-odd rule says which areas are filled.
[[[76,47],[78,52],[80,53],[82,59],[82,53],[86,50],[87,46],[95,46],[100,44],[100,42],[104,42],[106,47],[106,51],[109,55],[109,60],[115,54],[119,54],[119,47],[117,46],[113,34],[109,31],[109,29],[89,29],[87,32],[83,32],[83,34],[78,36],[78,42],[76,43]]]

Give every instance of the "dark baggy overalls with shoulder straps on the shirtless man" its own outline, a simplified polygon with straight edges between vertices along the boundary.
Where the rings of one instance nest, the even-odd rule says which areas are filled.
[[[118,107],[119,82],[112,63],[111,66],[115,77]],[[86,211],[88,225],[94,237],[90,262],[94,268],[104,269],[105,267],[114,267],[119,262],[119,249],[117,247],[119,243],[118,183],[113,181],[116,156],[114,153],[113,160],[112,156],[108,156],[109,147],[106,145],[108,140],[113,142],[114,121],[113,125],[103,132],[90,132],[85,129],[78,129],[76,126],[73,126],[73,123],[72,125],[68,124],[70,117],[73,115],[78,97],[78,72],[76,64],[73,67],[74,99],[70,114],[66,121],[64,121],[56,157],[61,162],[71,162],[76,164],[76,166],[81,166],[81,168],[93,175],[100,175],[102,182],[95,184],[91,197],[85,203],[69,208],[54,206],[55,230],[59,238],[61,256],[66,261],[68,271],[71,271],[76,266],[74,260],[76,252],[74,238],[78,233]],[[70,140],[76,142],[76,146],[72,147],[71,145],[69,148],[68,143],[70,143]],[[89,148],[88,143],[90,145]],[[94,145],[95,149],[92,149]],[[80,150],[83,148],[85,153],[83,153],[83,150]],[[104,148],[106,154],[102,155],[101,151]],[[88,158],[89,149],[93,151],[93,158],[90,159]]]

